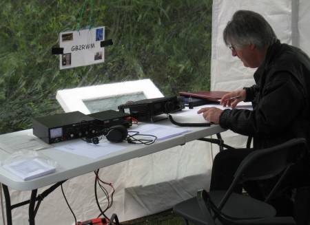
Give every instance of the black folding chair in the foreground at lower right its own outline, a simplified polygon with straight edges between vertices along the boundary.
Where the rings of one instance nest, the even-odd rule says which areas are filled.
[[[236,150],[238,151],[238,150]],[[279,190],[293,164],[304,158],[307,141],[295,138],[283,144],[249,153],[242,160],[227,191],[200,190],[197,197],[174,206],[174,213],[194,224],[295,224],[292,217],[276,217],[267,202]],[[223,165],[225,166],[225,165]],[[236,185],[253,180],[278,178],[265,202],[234,193]]]

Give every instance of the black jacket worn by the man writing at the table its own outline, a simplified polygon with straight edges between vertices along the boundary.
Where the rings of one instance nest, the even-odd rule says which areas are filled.
[[[253,111],[226,109],[220,126],[254,137],[263,149],[295,137],[309,138],[310,59],[297,47],[277,41],[254,73],[256,85],[245,88]]]

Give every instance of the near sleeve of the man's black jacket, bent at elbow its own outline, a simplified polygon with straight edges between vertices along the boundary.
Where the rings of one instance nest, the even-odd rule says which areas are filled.
[[[253,111],[225,109],[220,114],[220,126],[246,136],[269,136],[289,129],[302,111],[305,96],[289,72],[273,76],[272,81],[265,84],[262,96],[256,94],[259,101]]]

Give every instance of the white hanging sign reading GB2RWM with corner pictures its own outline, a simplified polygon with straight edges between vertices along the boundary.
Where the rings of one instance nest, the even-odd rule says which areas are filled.
[[[61,32],[59,47],[63,48],[63,54],[59,58],[59,68],[68,69],[103,63],[104,47],[101,47],[100,43],[104,39],[104,27]]]

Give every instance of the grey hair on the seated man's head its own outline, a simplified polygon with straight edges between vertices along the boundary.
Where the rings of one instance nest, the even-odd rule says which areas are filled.
[[[223,32],[223,38],[226,45],[238,48],[253,44],[260,50],[269,47],[277,40],[276,34],[265,18],[249,10],[234,13]]]

